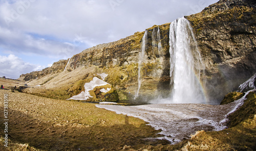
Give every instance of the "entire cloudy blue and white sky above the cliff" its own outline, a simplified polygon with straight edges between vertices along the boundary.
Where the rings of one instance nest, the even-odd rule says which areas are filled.
[[[201,12],[218,0],[0,0],[0,77]]]

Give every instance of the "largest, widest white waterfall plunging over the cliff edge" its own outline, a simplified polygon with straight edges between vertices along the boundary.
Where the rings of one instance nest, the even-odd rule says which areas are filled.
[[[201,56],[193,30],[184,17],[170,23],[169,46],[170,103],[205,103],[199,79]]]

